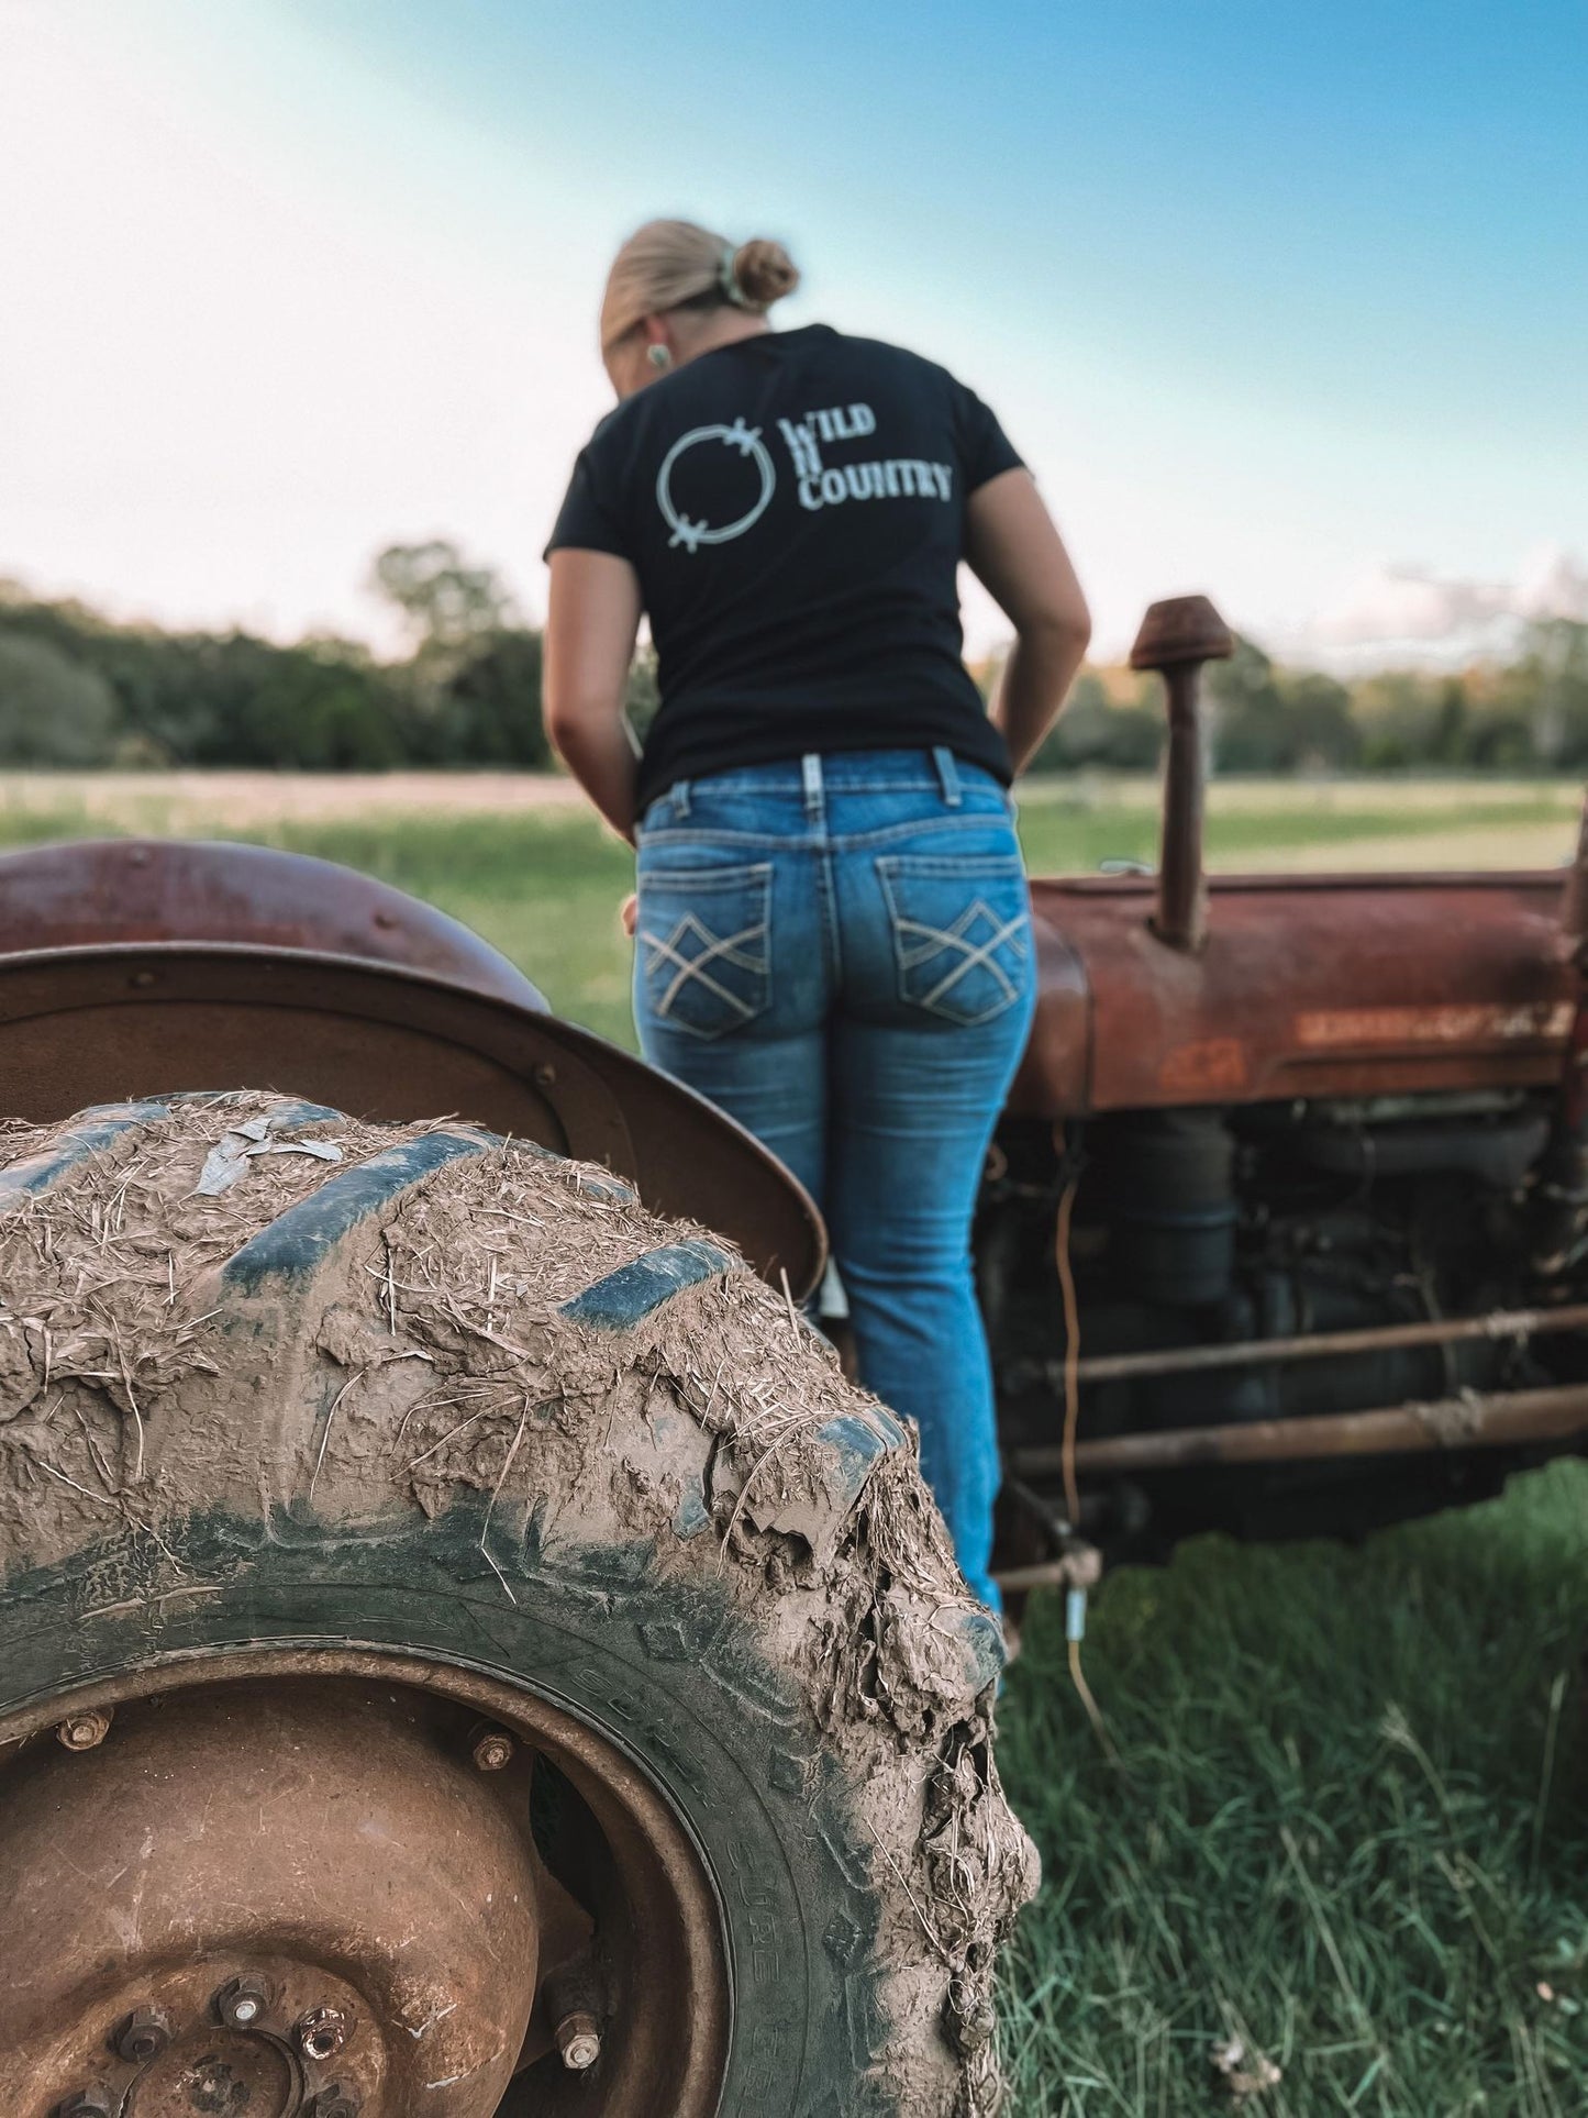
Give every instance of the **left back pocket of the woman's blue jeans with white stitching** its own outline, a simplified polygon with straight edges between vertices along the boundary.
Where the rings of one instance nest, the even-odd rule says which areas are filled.
[[[764,1015],[773,864],[639,870],[639,983],[656,1023],[720,1038]]]

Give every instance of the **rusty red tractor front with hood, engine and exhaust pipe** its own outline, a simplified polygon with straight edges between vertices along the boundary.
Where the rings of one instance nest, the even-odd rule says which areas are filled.
[[[1209,883],[1196,676],[1230,648],[1188,597],[1133,650],[1169,693],[1156,877],[1033,883],[976,1226],[1006,1578],[1076,1533],[1359,1536],[1588,1432],[1588,837],[1565,875]]]

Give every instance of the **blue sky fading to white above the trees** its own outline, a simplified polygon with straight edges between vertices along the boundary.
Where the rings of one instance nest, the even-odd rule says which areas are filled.
[[[788,322],[999,407],[1103,646],[1188,587],[1336,661],[1588,614],[1580,0],[0,0],[0,36],[36,407],[0,572],[368,627],[368,553],[449,532],[534,610],[606,263],[686,212],[790,241]]]

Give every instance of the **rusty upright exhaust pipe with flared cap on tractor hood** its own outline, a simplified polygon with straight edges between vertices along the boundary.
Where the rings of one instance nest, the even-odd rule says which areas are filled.
[[[1156,669],[1169,693],[1169,762],[1162,788],[1158,911],[1152,932],[1171,949],[1196,953],[1207,940],[1203,877],[1203,729],[1196,686],[1205,661],[1234,654],[1234,633],[1205,595],[1150,604],[1131,648],[1133,669]]]

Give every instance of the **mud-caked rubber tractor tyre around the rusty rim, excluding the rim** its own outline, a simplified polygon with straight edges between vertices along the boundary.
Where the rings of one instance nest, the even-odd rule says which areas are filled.
[[[4,1713],[265,1639],[570,1707],[714,1874],[724,2112],[997,2107],[997,1627],[908,1430],[608,1171],[269,1095],[2,1131],[0,1578]]]

